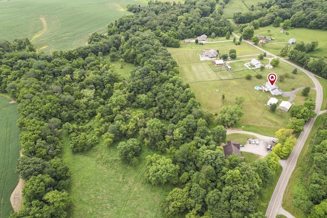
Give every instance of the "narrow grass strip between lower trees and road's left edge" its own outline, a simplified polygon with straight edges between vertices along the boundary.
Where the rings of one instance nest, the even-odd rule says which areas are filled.
[[[275,172],[275,176],[271,180],[271,184],[268,184],[266,187],[263,188],[262,196],[259,198],[260,202],[259,202],[259,205],[258,205],[258,210],[263,212],[264,214],[267,211],[267,208],[268,208],[272,193],[274,192],[274,189],[276,187],[276,184],[278,182],[279,177],[282,174],[282,171],[283,171],[282,166],[279,166],[279,168]],[[284,205],[283,205],[283,207],[284,207]]]

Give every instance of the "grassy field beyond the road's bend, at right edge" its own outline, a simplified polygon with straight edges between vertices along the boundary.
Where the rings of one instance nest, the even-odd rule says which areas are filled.
[[[283,48],[283,46],[288,45],[288,40],[290,38],[295,38],[296,42],[303,41],[305,43],[309,43],[312,41],[318,41],[318,47],[315,51],[309,53],[312,57],[327,57],[327,39],[326,39],[326,31],[323,30],[311,30],[307,28],[294,28],[285,30],[285,33],[280,33],[281,27],[273,27],[269,25],[267,27],[261,27],[258,30],[254,31],[254,34],[260,34],[266,37],[273,37],[275,40],[264,45],[264,49],[268,52],[271,52],[274,55],[278,55],[279,50]],[[270,33],[268,32],[270,30]],[[286,35],[286,32],[289,35]],[[262,47],[261,44],[258,44]]]

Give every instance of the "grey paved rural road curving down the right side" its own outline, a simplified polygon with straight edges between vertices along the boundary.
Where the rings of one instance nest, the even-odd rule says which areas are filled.
[[[238,37],[238,35],[236,35],[235,33],[232,33],[233,36]],[[271,55],[275,58],[277,58],[276,55],[271,54],[270,52],[267,52],[266,50],[262,49],[261,47],[255,45],[254,43],[247,41],[247,40],[243,40],[244,42],[254,46],[256,49],[259,49],[263,52],[266,52],[267,55]],[[320,108],[321,108],[321,104],[323,101],[323,93],[322,93],[322,86],[320,85],[320,83],[318,82],[318,80],[316,79],[316,76],[313,75],[310,71],[301,68],[299,66],[297,66],[296,64],[289,62],[288,60],[278,57],[281,61],[284,61],[296,68],[298,68],[299,70],[303,71],[306,75],[308,75],[308,77],[313,81],[313,83],[315,84],[315,88],[316,88],[316,92],[317,92],[317,97],[316,97],[316,109],[315,112],[317,114],[320,113]],[[308,120],[308,122],[306,123],[303,131],[301,132],[300,136],[298,137],[297,140],[297,144],[294,147],[292,153],[290,154],[289,158],[287,159],[287,162],[285,164],[285,166],[283,167],[283,171],[281,174],[281,177],[279,177],[279,180],[276,184],[275,190],[271,196],[270,199],[270,203],[268,205],[268,209],[266,212],[266,216],[268,218],[275,218],[277,214],[283,214],[286,215],[288,218],[293,218],[294,216],[292,216],[289,212],[287,212],[285,209],[283,209],[282,207],[282,202],[283,202],[283,195],[284,195],[284,191],[286,189],[288,180],[290,179],[290,176],[296,166],[296,162],[297,162],[297,158],[303,148],[303,145],[305,144],[308,135],[312,129],[313,124],[315,123],[317,116],[311,118]]]

